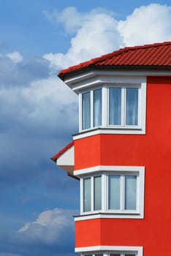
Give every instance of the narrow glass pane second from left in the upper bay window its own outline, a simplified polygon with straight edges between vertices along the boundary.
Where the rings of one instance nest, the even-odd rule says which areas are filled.
[[[94,127],[102,125],[102,89],[94,90]]]

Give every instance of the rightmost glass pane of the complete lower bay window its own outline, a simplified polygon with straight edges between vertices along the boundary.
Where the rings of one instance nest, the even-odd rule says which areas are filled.
[[[136,210],[137,176],[125,176],[125,210]]]

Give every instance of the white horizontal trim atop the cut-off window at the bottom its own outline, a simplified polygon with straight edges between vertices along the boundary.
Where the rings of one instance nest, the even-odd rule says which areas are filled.
[[[142,246],[88,246],[88,247],[76,247],[75,252],[85,253],[85,252],[132,252],[137,253],[137,256],[143,255]]]

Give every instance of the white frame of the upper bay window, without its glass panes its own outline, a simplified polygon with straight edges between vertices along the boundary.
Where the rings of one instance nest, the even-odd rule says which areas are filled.
[[[126,88],[138,88],[138,124],[137,125],[126,125],[125,120],[125,96],[122,95],[122,124],[121,125],[110,125],[109,124],[109,89],[111,87],[120,87],[123,91]],[[99,126],[103,128],[100,131],[95,131],[93,123],[93,91],[102,88],[102,125]],[[90,91],[91,92],[91,127],[89,129],[82,128],[82,94]],[[146,118],[146,83],[108,83],[106,85],[97,86],[96,88],[86,89],[79,92],[79,131],[80,135],[75,135],[74,139],[84,138],[91,135],[96,135],[99,133],[109,133],[109,134],[145,134],[145,118]],[[83,134],[86,132],[86,134]],[[88,133],[87,133],[88,132]]]

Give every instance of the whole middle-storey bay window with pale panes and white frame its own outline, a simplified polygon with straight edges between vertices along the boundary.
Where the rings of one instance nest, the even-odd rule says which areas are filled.
[[[76,170],[80,213],[143,218],[144,167],[97,166]]]

